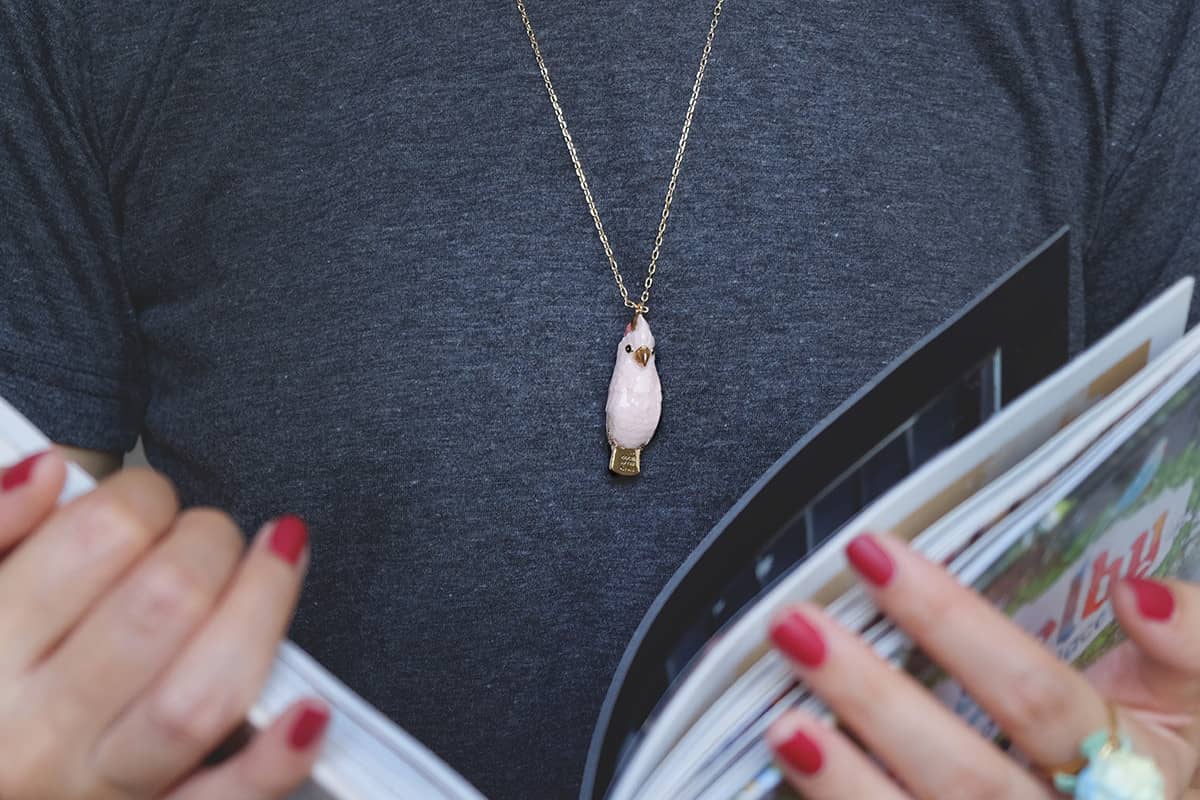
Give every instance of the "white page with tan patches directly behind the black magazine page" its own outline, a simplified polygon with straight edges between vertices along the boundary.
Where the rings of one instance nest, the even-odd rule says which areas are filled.
[[[638,747],[617,775],[610,796],[630,800],[644,788],[655,766],[701,714],[754,667],[767,651],[767,622],[775,609],[800,599],[829,603],[853,585],[841,557],[850,536],[863,529],[887,529],[912,539],[1001,476],[1178,341],[1192,287],[1192,278],[1180,281],[1086,353],[925,464],[736,618],[709,642],[655,711]]]

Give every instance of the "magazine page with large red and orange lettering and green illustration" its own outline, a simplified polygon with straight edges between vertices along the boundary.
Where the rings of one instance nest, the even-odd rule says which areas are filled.
[[[1140,426],[1120,446],[1080,463],[978,555],[976,590],[1079,669],[1104,669],[1123,639],[1109,603],[1120,579],[1200,579],[1198,373],[1200,360],[1163,401],[1139,409],[1148,419],[1132,420],[1127,427]],[[956,684],[925,678],[956,712],[996,733]]]

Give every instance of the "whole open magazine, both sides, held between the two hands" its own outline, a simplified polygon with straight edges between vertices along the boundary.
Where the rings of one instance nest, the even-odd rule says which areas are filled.
[[[815,600],[985,735],[986,715],[881,618],[844,545],[890,530],[1063,660],[1103,668],[1129,575],[1200,579],[1200,329],[1184,279],[1067,359],[1060,231],[797,443],[664,588],[613,679],[584,800],[786,796],[764,741],[822,711],[767,644]],[[0,464],[48,446],[0,399]],[[60,501],[92,481],[72,467]],[[302,696],[334,710],[301,798],[481,795],[286,642],[250,722]]]

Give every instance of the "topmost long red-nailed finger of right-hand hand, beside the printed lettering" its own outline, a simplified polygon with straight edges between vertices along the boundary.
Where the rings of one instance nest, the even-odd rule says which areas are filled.
[[[942,567],[870,534],[847,557],[883,613],[1036,763],[1070,762],[1084,736],[1106,727],[1104,698],[1086,678]]]

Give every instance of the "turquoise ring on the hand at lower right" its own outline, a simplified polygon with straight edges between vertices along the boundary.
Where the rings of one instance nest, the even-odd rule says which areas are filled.
[[[1117,730],[1116,708],[1109,704],[1109,727],[1079,746],[1082,758],[1051,772],[1055,788],[1076,800],[1165,800],[1163,774],[1153,760],[1133,752]]]

